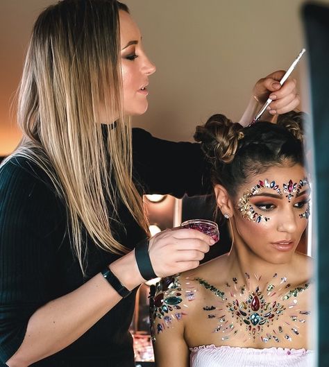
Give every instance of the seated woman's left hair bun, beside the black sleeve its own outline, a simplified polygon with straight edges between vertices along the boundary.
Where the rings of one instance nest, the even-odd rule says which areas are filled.
[[[223,114],[214,114],[205,125],[196,126],[194,139],[201,142],[208,157],[230,163],[237,151],[239,139],[244,137],[242,129],[242,125],[233,123]]]

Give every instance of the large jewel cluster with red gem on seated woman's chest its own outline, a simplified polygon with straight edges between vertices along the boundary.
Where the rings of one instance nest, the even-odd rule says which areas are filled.
[[[277,274],[273,278],[276,278]],[[288,289],[287,278],[281,278],[278,285],[267,283],[263,291],[257,287],[255,291],[246,291],[244,285],[238,287],[237,278],[233,278],[234,285],[226,284],[227,290],[221,291],[208,284],[201,278],[196,280],[212,291],[219,298],[216,307],[203,307],[208,312],[208,318],[217,318],[218,325],[214,332],[226,341],[233,336],[246,337],[253,341],[292,341],[299,334],[302,323],[310,311],[299,309],[297,297],[310,285]]]

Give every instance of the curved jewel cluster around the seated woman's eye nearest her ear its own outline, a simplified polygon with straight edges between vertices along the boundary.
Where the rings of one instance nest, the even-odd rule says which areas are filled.
[[[258,194],[258,192],[264,188],[273,189],[280,196],[282,196],[282,192],[278,185],[276,185],[275,181],[270,182],[267,178],[264,181],[260,180],[257,185],[246,191],[242,198],[239,198],[239,203],[237,204],[239,212],[244,218],[248,219],[249,221],[253,221],[256,223],[260,223],[260,221],[269,221],[269,218],[267,216],[263,216],[262,214],[258,214],[258,212],[255,212],[253,206],[249,202],[249,198],[251,198],[251,196]]]

